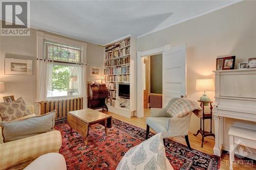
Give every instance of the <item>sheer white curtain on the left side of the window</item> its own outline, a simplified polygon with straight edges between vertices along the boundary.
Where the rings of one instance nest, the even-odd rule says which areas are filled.
[[[53,62],[43,59],[37,60],[37,101],[46,101],[52,87]]]

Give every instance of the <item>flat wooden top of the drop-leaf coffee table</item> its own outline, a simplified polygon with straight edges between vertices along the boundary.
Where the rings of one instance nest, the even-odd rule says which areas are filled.
[[[95,122],[99,122],[100,120],[104,120],[106,118],[112,117],[111,115],[93,110],[93,109],[82,109],[76,111],[70,111],[68,114],[80,119],[82,122],[87,124],[93,124]]]

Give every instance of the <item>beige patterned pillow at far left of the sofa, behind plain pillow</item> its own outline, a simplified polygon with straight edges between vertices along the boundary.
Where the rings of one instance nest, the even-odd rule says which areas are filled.
[[[18,98],[10,103],[0,103],[0,116],[2,120],[10,121],[29,114],[32,113],[29,111],[22,98]]]

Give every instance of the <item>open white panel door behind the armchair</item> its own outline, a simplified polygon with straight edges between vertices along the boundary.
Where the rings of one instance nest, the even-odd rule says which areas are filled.
[[[163,107],[173,98],[186,97],[186,45],[163,52]]]

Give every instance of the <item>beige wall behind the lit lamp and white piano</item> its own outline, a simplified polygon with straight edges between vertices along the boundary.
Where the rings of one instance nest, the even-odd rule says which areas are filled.
[[[138,51],[171,44],[187,45],[187,98],[198,100],[196,79],[214,78],[216,58],[235,55],[236,63],[256,56],[256,2],[243,1],[218,11],[188,20],[138,39]],[[208,92],[214,100],[214,92]],[[193,115],[190,132],[199,129]],[[209,129],[209,123],[206,124]]]

